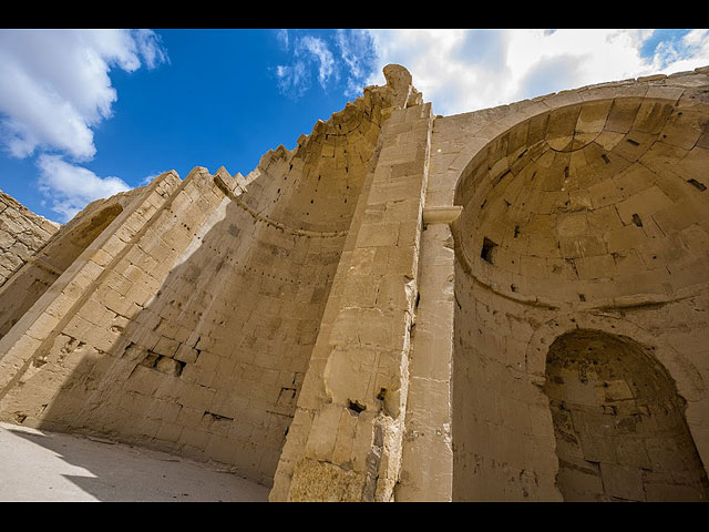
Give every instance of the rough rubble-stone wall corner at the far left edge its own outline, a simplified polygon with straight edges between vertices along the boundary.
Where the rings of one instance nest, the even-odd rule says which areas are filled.
[[[60,227],[0,191],[0,286]]]

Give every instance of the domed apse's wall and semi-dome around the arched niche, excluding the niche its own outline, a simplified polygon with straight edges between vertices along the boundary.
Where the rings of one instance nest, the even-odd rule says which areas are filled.
[[[706,325],[709,102],[674,83],[630,80],[455,119],[470,122],[471,140],[436,173],[454,192],[439,193],[434,178],[430,196],[463,207],[453,224],[454,500],[561,498],[541,390],[548,345],[534,345],[542,329],[656,346],[706,454],[706,350],[671,321]]]

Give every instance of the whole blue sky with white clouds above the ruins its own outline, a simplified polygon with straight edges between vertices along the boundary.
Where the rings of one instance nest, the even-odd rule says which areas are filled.
[[[64,223],[175,170],[250,172],[381,69],[436,114],[709,64],[706,30],[0,30],[0,190]]]

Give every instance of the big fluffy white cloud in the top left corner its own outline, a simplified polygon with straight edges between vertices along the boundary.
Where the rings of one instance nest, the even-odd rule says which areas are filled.
[[[109,72],[167,60],[147,30],[1,30],[0,132],[14,157],[59,150],[95,155],[92,127],[116,101]]]

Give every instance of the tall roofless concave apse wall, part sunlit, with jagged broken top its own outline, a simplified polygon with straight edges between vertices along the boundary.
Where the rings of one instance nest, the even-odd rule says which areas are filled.
[[[116,218],[115,231],[130,228],[121,252],[32,336],[30,359],[16,350],[3,417],[216,460],[271,483],[394,96],[368,88],[246,177],[161,176],[171,186],[157,208],[140,223]]]

